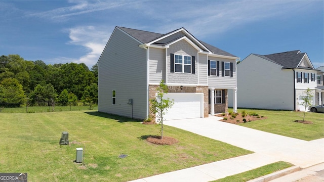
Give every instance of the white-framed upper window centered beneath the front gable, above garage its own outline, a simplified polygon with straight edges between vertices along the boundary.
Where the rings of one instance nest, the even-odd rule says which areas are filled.
[[[174,55],[175,72],[191,73],[191,56]]]

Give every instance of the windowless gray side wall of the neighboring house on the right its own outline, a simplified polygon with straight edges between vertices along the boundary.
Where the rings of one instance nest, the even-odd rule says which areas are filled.
[[[237,65],[237,107],[294,110],[294,72],[281,68],[255,55],[242,60]]]

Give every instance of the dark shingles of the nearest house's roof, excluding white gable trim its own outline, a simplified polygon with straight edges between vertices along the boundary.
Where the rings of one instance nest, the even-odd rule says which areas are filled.
[[[171,31],[169,33],[166,33],[166,34],[160,34],[160,33],[154,33],[154,32],[149,32],[149,31],[143,31],[143,30],[136,30],[136,29],[132,29],[132,28],[125,28],[125,27],[118,27],[120,28],[121,30],[125,31],[126,33],[128,33],[129,35],[131,35],[132,37],[136,38],[137,40],[139,40],[140,42],[142,43],[148,43],[152,40],[155,40],[159,37],[162,37],[164,35],[167,35],[169,33],[172,33],[174,31],[177,31],[177,30],[174,30],[174,31]],[[164,45],[164,44],[167,44],[169,42],[172,42],[178,38],[181,38],[183,36],[183,34],[179,33],[177,34],[176,36],[173,36],[173,39],[172,40],[169,40],[169,39],[162,39],[162,40],[159,40],[157,42],[155,42],[154,44],[160,44],[160,45]],[[201,44],[203,44],[207,49],[209,49],[211,52],[213,52],[214,54],[217,54],[217,55],[223,55],[223,56],[231,56],[231,57],[236,57],[230,53],[227,53],[221,49],[218,49],[216,47],[214,47],[213,45],[211,44],[208,44],[206,42],[203,42],[203,41],[200,41]],[[205,50],[206,51],[206,50]]]

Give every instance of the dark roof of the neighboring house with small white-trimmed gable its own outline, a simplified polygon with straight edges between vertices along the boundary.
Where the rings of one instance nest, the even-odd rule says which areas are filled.
[[[257,54],[253,54],[253,55],[256,55],[258,57],[261,57],[263,59],[266,59],[278,65],[281,65],[282,66],[281,69],[291,69],[291,68],[313,69],[313,68],[299,66],[302,59],[305,56],[307,57],[306,53],[301,53],[299,50],[288,51],[283,53],[275,53],[269,55],[257,55]]]

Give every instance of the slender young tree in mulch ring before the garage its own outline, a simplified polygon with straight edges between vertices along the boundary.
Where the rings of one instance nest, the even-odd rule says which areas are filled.
[[[163,139],[163,115],[173,106],[174,101],[169,98],[163,98],[168,93],[168,86],[164,83],[164,80],[161,80],[159,86],[156,88],[156,92],[157,96],[154,99],[150,99],[150,109],[154,115],[157,114],[156,122],[161,124],[161,139]]]

